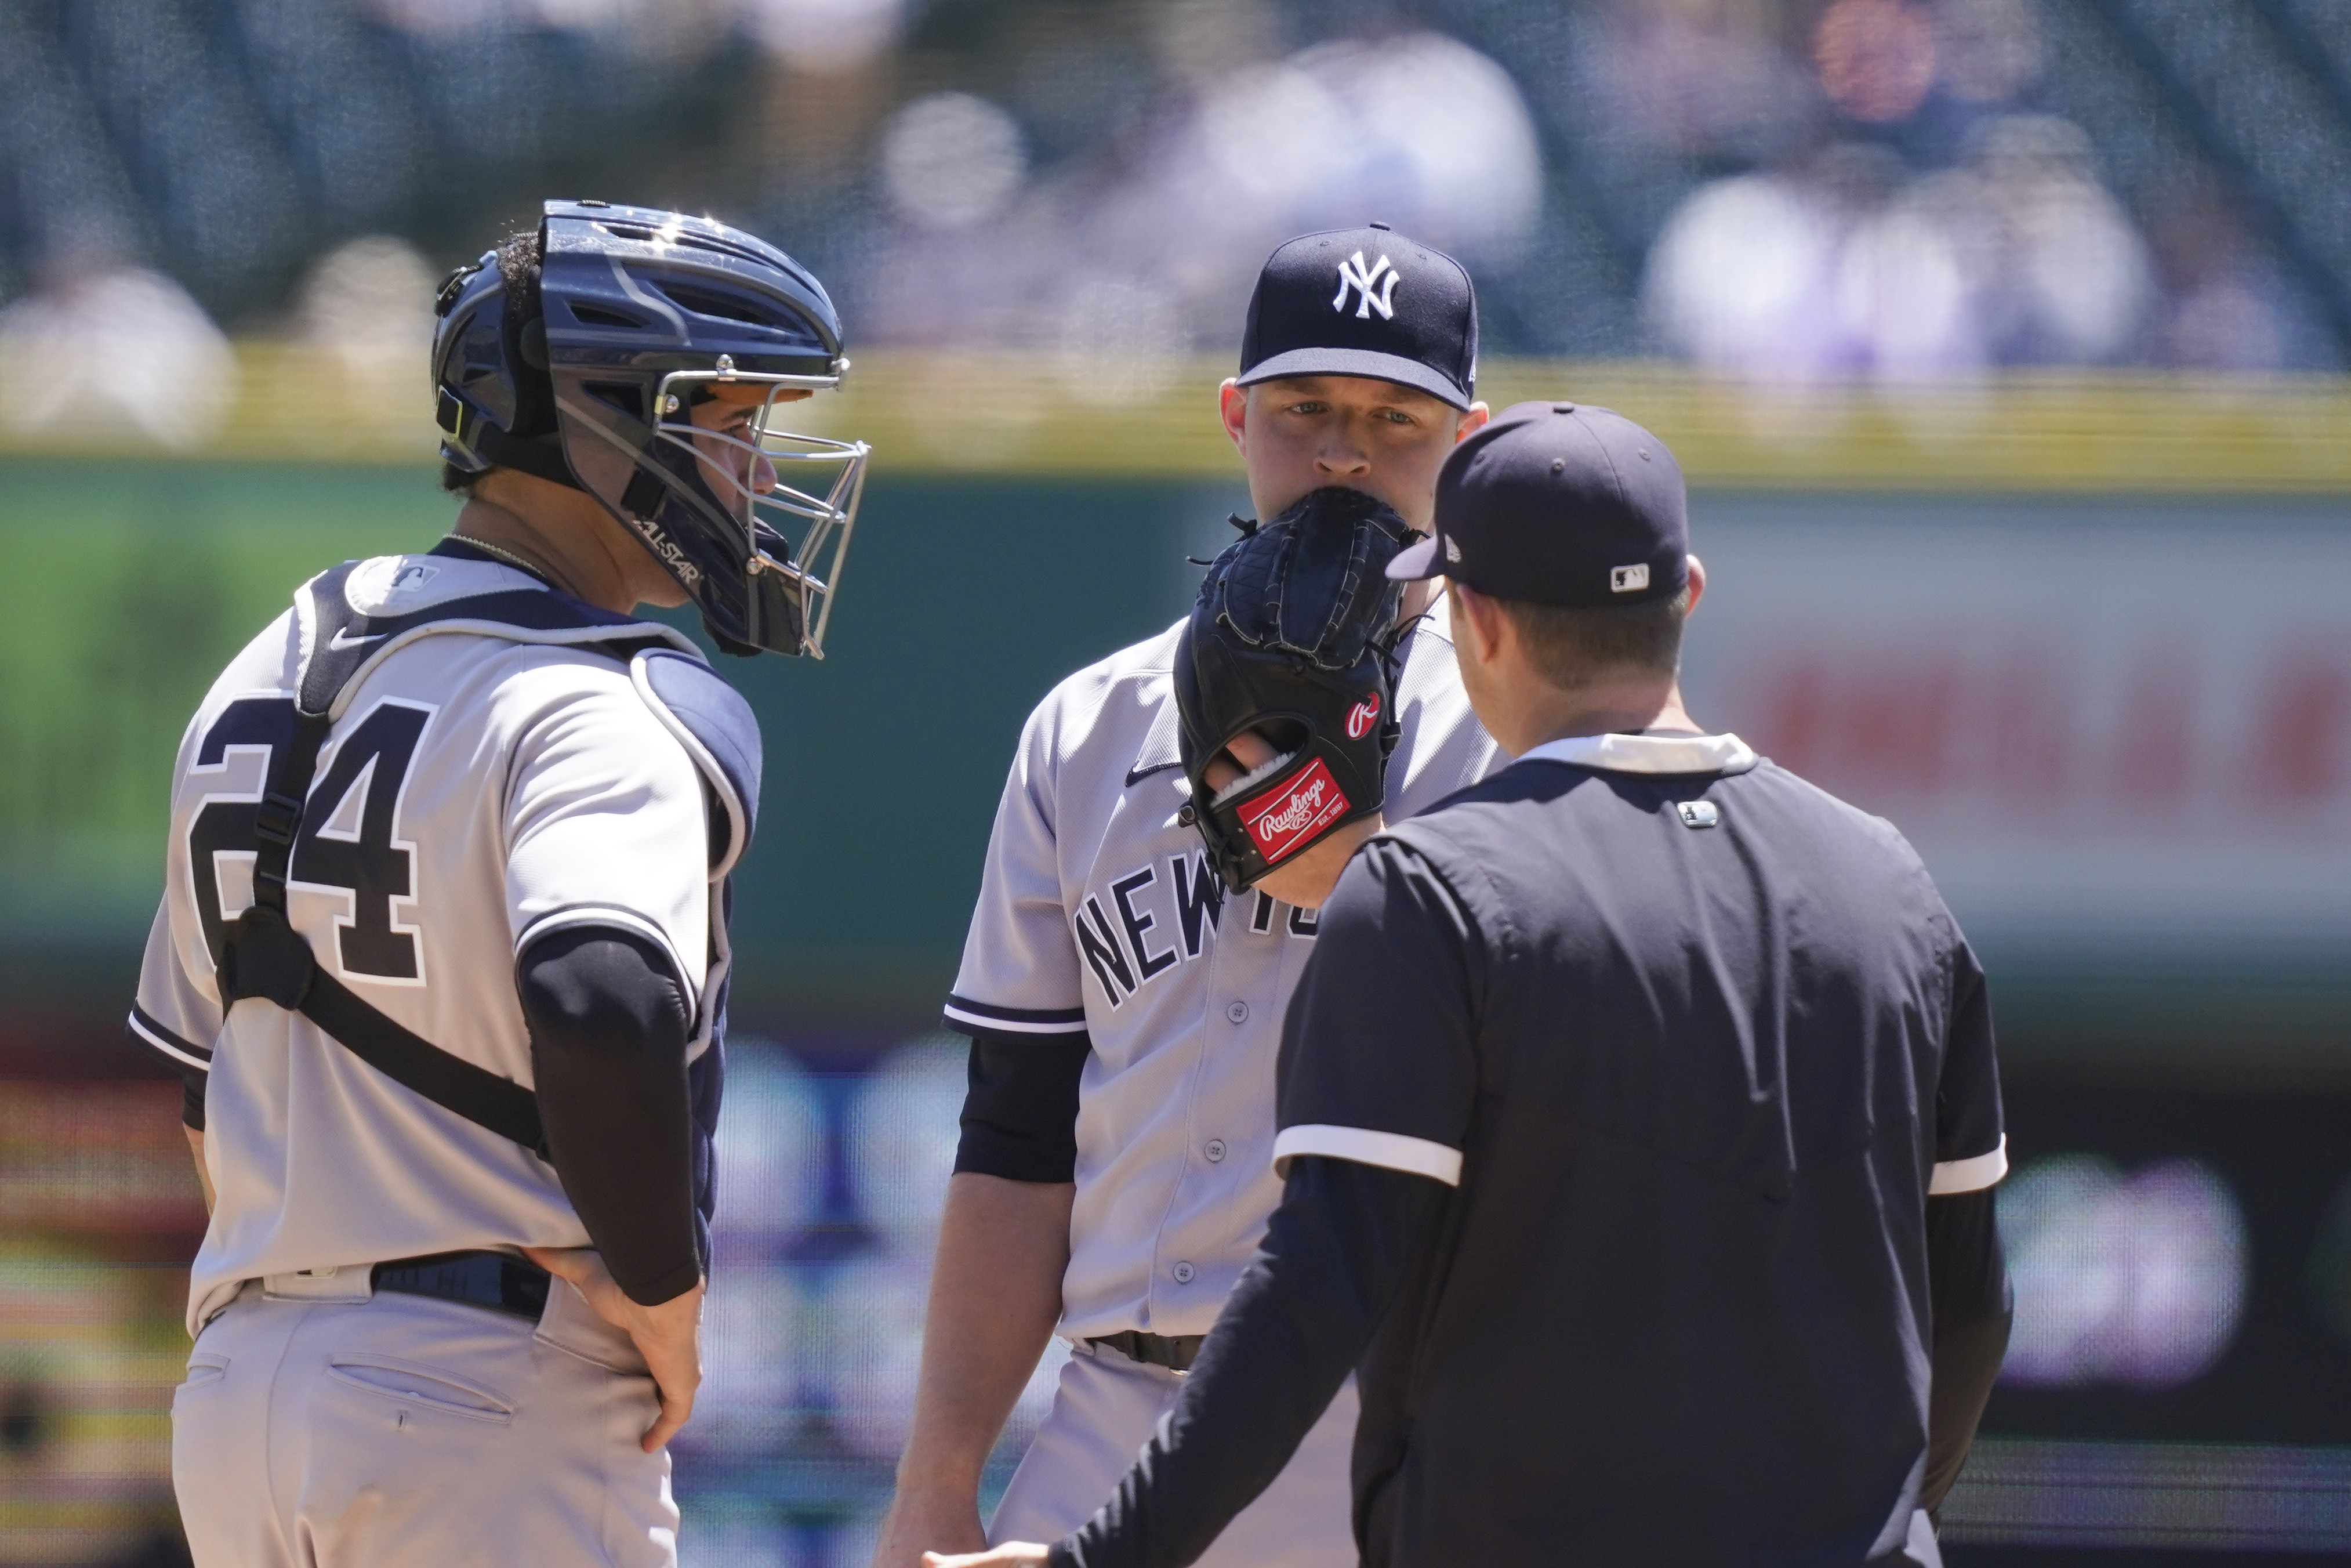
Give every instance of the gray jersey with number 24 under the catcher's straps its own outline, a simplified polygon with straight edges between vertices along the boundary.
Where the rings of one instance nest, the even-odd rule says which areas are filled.
[[[346,588],[355,611],[386,618],[475,595],[585,611],[522,571],[442,555],[362,562]],[[689,741],[630,665],[567,646],[614,637],[616,625],[686,654],[691,644],[654,623],[522,621],[426,625],[388,642],[346,689],[287,917],[327,973],[395,1023],[529,1086],[515,954],[560,926],[623,926],[710,999],[724,978],[715,900],[726,867],[705,856],[710,806]],[[205,1164],[219,1204],[195,1258],[190,1333],[245,1279],[588,1246],[555,1168],[529,1150],[376,1072],[301,1013],[263,999],[221,1009],[214,954],[252,903],[252,802],[273,738],[292,724],[299,656],[287,611],[230,661],[188,724],[172,771],[165,898],[132,1013],[141,1039],[212,1074]],[[240,804],[242,837],[223,830]],[[712,1037],[715,1009],[698,1011],[689,1060]]]

